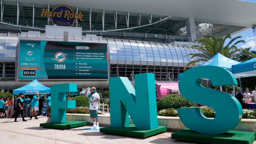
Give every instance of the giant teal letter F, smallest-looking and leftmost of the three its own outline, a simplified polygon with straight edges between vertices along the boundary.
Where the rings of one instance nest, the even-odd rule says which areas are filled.
[[[51,85],[51,122],[65,123],[66,109],[76,108],[76,101],[66,101],[66,92],[76,92],[77,84],[58,84]]]

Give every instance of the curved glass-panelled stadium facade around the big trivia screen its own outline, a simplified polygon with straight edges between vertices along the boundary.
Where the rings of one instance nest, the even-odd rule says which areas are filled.
[[[15,85],[15,81],[17,82],[17,65],[15,61],[17,62],[18,58],[17,44],[19,39],[63,41],[63,36],[1,33],[0,77],[1,81],[5,82],[5,85],[7,84],[6,82],[10,82],[10,85],[12,85],[12,82],[13,85]],[[156,82],[177,81],[177,75],[184,72],[184,66],[190,60],[190,57],[185,55],[198,53],[197,50],[186,49],[187,47],[184,46],[146,41],[86,36],[69,36],[68,41],[107,42],[110,56],[109,77],[128,77],[130,81],[132,81],[132,73],[154,73]],[[198,63],[195,66],[200,64]],[[18,86],[13,86],[12,88],[18,88]]]

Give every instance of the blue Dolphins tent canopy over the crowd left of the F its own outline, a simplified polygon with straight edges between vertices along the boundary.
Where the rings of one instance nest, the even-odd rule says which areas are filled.
[[[13,90],[13,94],[23,93],[26,94],[35,94],[36,92],[40,94],[47,94],[51,92],[51,88],[48,88],[38,82],[36,79],[30,82],[29,84]]]

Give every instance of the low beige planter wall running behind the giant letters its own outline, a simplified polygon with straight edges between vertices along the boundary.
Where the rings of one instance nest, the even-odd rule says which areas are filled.
[[[167,126],[169,131],[179,131],[184,128],[184,124],[181,122],[179,117],[166,117],[166,116],[157,116],[158,125]],[[66,114],[66,119],[68,121],[87,121],[91,124],[92,119],[90,114]],[[130,123],[133,124],[131,118]],[[99,114],[99,125],[100,126],[110,126],[110,114]],[[235,127],[233,130],[237,131],[249,131],[256,133],[256,119],[242,119],[240,124]]]

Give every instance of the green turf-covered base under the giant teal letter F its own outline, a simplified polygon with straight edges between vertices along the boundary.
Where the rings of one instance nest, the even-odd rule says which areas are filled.
[[[87,125],[87,122],[84,121],[67,121],[66,123],[41,123],[40,127],[45,128],[56,128],[56,129],[68,129],[74,127],[80,127]]]

